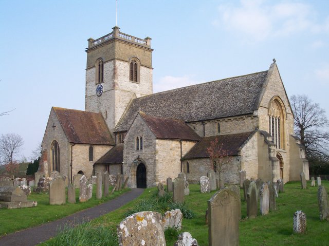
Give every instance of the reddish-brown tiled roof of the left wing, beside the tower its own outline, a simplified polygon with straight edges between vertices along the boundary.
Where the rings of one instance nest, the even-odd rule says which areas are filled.
[[[52,107],[70,143],[114,145],[101,113]]]

